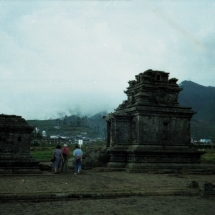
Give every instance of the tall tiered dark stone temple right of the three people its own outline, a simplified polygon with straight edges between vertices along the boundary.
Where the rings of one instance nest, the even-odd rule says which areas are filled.
[[[129,81],[127,100],[105,116],[108,167],[130,172],[199,169],[202,152],[191,148],[190,120],[182,90],[169,73],[147,70]]]

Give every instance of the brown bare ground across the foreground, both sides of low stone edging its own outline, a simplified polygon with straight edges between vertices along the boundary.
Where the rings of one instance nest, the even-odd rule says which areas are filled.
[[[16,201],[1,199],[0,215],[214,215],[215,196],[198,193],[189,195],[189,181],[215,183],[215,175],[141,174],[126,172],[97,172],[85,170],[80,175],[72,171],[40,176],[0,176],[0,196],[17,195]],[[168,196],[167,191],[185,190],[185,195]],[[146,196],[128,196],[106,199],[62,199],[62,201],[36,201],[36,196],[75,192],[150,192]],[[170,192],[171,193],[171,192]],[[31,201],[18,201],[19,195]],[[163,196],[160,196],[163,195]],[[35,197],[35,200],[34,200]],[[26,199],[29,200],[29,199]]]

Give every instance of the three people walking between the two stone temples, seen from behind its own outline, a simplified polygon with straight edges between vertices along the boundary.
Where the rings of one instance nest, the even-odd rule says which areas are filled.
[[[56,149],[53,153],[52,167],[54,169],[54,174],[60,172],[66,172],[68,170],[68,159],[70,155],[70,149],[67,144],[64,144],[61,148],[60,145],[56,146]],[[74,174],[78,174],[82,170],[81,161],[82,161],[83,152],[80,149],[80,146],[75,145],[75,150],[73,151],[74,156]]]

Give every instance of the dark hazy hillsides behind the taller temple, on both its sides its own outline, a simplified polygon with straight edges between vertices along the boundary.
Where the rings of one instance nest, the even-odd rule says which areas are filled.
[[[215,141],[215,87],[205,87],[192,81],[180,84],[183,90],[179,93],[180,106],[192,107],[197,113],[191,120],[191,137],[194,140],[210,138]],[[106,123],[103,111],[91,117],[64,116],[50,120],[28,120],[30,125],[46,131],[47,135],[75,136],[85,134],[91,138],[106,137]]]

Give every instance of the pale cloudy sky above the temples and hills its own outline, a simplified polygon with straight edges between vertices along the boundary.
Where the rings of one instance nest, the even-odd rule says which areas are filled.
[[[112,112],[147,70],[215,86],[215,2],[0,1],[0,113]]]

